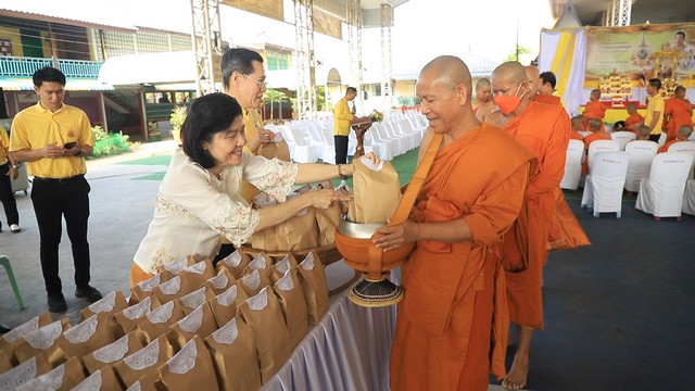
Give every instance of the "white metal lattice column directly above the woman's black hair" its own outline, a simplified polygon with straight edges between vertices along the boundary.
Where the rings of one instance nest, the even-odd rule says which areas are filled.
[[[213,54],[222,54],[219,0],[191,0],[193,31],[191,41],[195,53],[195,89],[198,96],[215,92]]]

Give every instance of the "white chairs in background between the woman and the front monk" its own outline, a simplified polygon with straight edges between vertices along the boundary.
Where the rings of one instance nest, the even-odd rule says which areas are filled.
[[[381,123],[372,123],[364,139],[365,153],[374,152],[379,159],[391,161],[420,146],[427,128],[425,117],[416,111],[388,112]],[[333,119],[300,119],[282,125],[268,124],[266,128],[278,133],[287,141],[290,157],[298,163],[336,163]],[[350,133],[348,154],[354,155],[357,138]]]

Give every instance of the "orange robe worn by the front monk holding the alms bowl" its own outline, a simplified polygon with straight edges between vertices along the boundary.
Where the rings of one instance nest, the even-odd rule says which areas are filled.
[[[391,390],[484,391],[489,371],[504,377],[508,313],[496,245],[519,213],[534,162],[489,124],[439,150],[414,218],[464,218],[472,239],[418,241],[403,265]]]

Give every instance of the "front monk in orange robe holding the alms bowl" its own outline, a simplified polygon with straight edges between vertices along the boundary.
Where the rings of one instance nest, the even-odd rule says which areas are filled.
[[[417,241],[402,267],[391,390],[485,391],[489,371],[504,377],[508,332],[496,247],[521,209],[535,159],[476,118],[470,73],[458,58],[427,64],[416,91],[429,121],[420,153],[434,134],[444,138],[413,218],[379,228],[374,240],[384,251]]]

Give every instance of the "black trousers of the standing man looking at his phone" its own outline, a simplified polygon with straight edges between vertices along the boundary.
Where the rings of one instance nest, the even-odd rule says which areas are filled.
[[[89,190],[91,188],[81,175],[67,180],[34,178],[31,203],[39,226],[39,256],[49,295],[61,293],[63,288],[58,275],[58,248],[63,232],[63,216],[73,250],[75,286],[84,288],[89,285]]]

